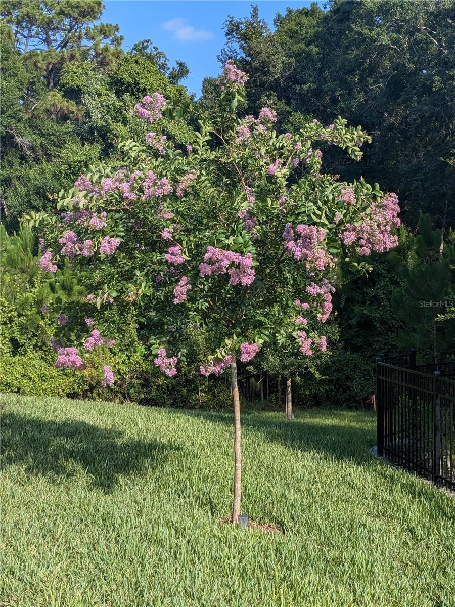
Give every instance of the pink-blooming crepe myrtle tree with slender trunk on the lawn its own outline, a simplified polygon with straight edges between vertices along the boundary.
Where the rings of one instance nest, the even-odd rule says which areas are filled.
[[[147,328],[155,365],[169,377],[184,359],[187,328],[211,336],[213,354],[201,361],[201,374],[231,373],[232,523],[241,497],[237,362],[251,361],[277,334],[302,356],[324,351],[337,263],[343,258],[365,271],[360,257],[395,246],[399,225],[394,194],[322,172],[320,143],[360,160],[370,140],[360,127],[313,120],[279,134],[267,107],[238,118],[246,80],[227,61],[218,79],[221,110],[196,117],[199,128],[184,150],[155,134],[153,124],[194,110],[172,107],[158,92],[144,97],[133,112],[150,123],[146,141],[124,141],[121,166],[93,168],[61,193],[38,262],[54,272],[69,257],[89,291],[78,307],[61,311],[75,328],[71,344],[55,339],[58,365],[81,368],[85,351],[109,345],[96,328],[109,305],[131,308]],[[109,366],[103,381],[114,381]]]

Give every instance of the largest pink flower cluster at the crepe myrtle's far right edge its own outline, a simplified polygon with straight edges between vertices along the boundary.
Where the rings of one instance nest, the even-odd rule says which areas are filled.
[[[357,253],[366,256],[372,251],[383,253],[393,249],[398,245],[398,237],[392,234],[392,230],[401,224],[399,212],[398,197],[394,193],[386,195],[379,203],[371,203],[369,216],[360,213],[360,225],[346,223],[341,232],[343,244],[355,244]]]

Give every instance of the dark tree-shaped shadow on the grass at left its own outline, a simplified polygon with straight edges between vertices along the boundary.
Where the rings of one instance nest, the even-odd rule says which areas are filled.
[[[119,475],[156,469],[176,450],[157,441],[124,439],[116,429],[83,421],[2,415],[2,470],[18,464],[27,475],[69,478],[83,467],[93,489],[110,493]],[[76,466],[75,466],[76,464]]]

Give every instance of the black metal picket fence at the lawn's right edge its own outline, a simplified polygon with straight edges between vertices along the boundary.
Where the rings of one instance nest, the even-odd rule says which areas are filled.
[[[376,402],[379,455],[455,490],[455,360],[380,356]]]

